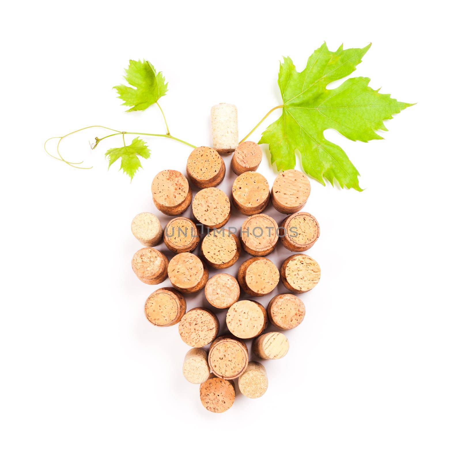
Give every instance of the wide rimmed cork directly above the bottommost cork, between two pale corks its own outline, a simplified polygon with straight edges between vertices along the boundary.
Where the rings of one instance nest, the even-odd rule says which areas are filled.
[[[246,344],[231,335],[217,337],[208,352],[208,365],[218,378],[238,378],[248,366]]]

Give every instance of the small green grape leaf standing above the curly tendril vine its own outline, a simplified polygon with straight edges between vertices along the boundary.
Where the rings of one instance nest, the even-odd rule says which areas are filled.
[[[118,98],[125,101],[122,106],[131,106],[126,112],[143,111],[166,95],[168,83],[165,83],[165,77],[161,72],[157,73],[149,61],[130,60],[125,72],[125,80],[131,87],[118,85],[114,88]]]

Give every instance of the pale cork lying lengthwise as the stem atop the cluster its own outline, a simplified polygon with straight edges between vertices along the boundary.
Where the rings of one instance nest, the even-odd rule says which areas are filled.
[[[234,152],[238,146],[237,108],[221,102],[211,108],[213,147],[219,154]]]

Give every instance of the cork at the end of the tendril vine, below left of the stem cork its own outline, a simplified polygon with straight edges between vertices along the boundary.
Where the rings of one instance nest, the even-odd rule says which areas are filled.
[[[195,148],[189,155],[186,166],[187,176],[197,187],[214,187],[226,173],[224,160],[211,147]]]

